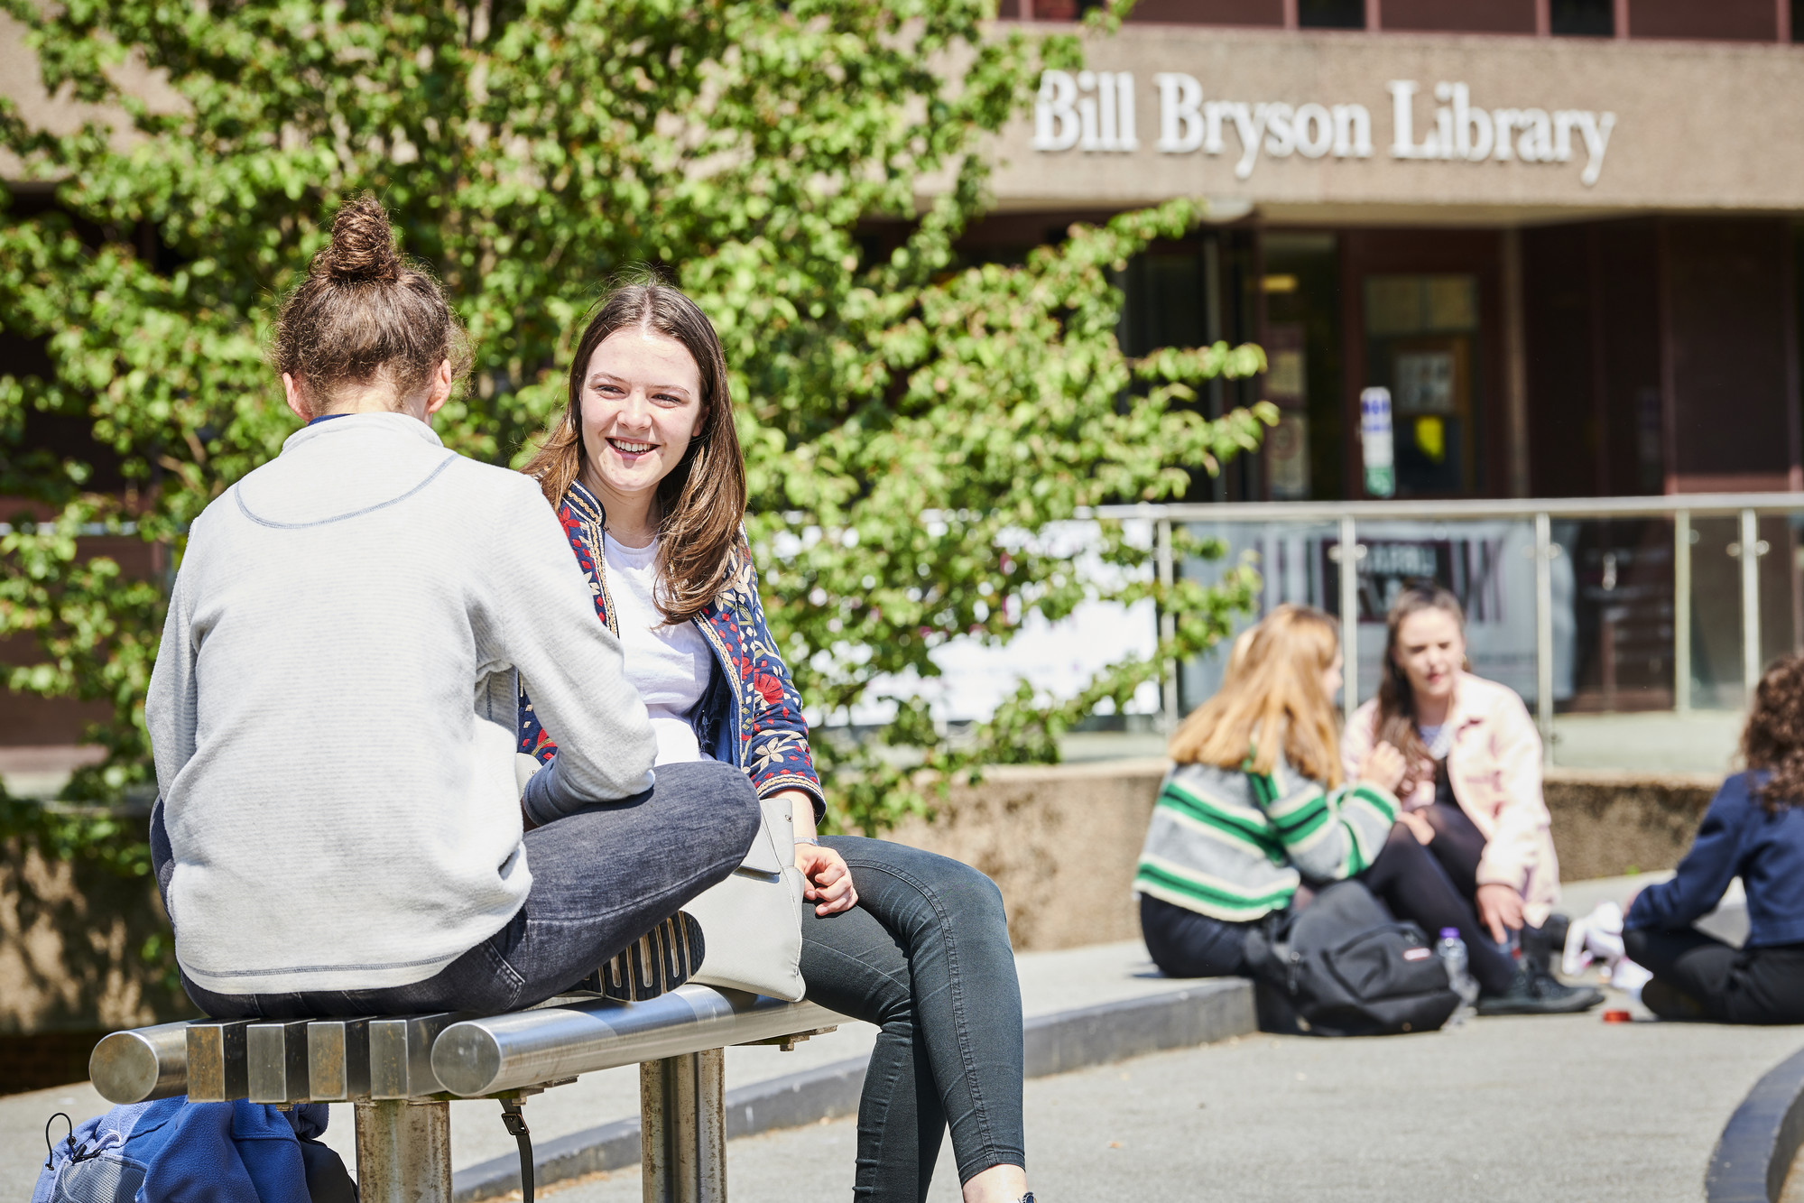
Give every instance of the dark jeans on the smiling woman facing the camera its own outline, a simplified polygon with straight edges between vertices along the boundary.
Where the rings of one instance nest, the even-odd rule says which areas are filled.
[[[859,905],[803,911],[808,999],[882,1028],[859,1100],[857,1199],[920,1203],[947,1125],[960,1181],[1026,1167],[1021,985],[1003,898],[967,864],[886,840],[821,840]]]

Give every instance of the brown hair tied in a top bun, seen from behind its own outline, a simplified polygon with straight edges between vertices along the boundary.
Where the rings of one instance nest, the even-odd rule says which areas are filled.
[[[438,281],[400,258],[388,211],[370,193],[339,206],[332,242],[281,303],[271,346],[319,417],[346,384],[386,381],[397,404],[451,361],[469,372],[469,339]]]

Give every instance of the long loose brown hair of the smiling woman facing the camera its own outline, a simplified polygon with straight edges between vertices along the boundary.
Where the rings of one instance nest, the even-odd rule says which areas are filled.
[[[732,427],[727,355],[702,307],[657,281],[613,287],[595,307],[570,361],[570,404],[545,436],[525,473],[536,476],[554,507],[588,467],[583,445],[583,381],[588,361],[617,330],[651,330],[682,343],[702,381],[702,433],[682,462],[658,482],[658,584],[655,601],[666,622],[687,622],[732,574],[745,521],[745,456]]]

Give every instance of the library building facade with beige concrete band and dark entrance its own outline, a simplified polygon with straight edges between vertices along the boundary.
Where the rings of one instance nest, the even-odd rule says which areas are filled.
[[[974,240],[1209,202],[1129,267],[1124,341],[1266,348],[1210,400],[1284,411],[1223,498],[1373,496],[1371,388],[1394,496],[1800,489],[1791,32],[1790,0],[1144,0],[1046,72]]]

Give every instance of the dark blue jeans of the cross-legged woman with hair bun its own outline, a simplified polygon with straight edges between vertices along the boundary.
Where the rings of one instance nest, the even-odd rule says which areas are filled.
[[[426,981],[382,990],[215,994],[184,974],[182,987],[216,1019],[520,1010],[570,988],[725,880],[752,846],[758,822],[758,795],[732,765],[664,765],[644,794],[527,831],[532,889],[525,905]],[[150,846],[157,882],[168,891],[173,866],[161,810],[152,817]]]

